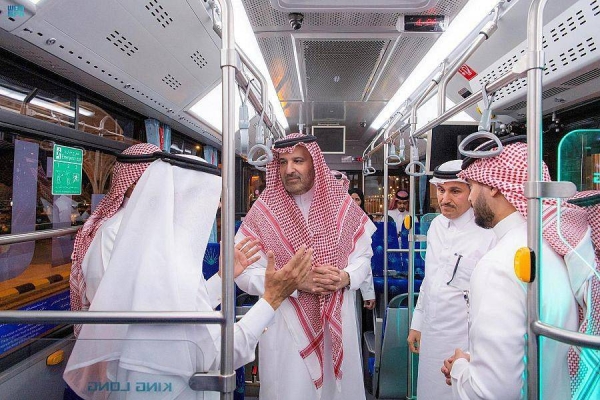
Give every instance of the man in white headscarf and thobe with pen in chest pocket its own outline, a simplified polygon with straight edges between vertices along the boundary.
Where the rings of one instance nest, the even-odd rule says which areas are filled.
[[[493,232],[475,224],[469,203],[469,185],[456,176],[461,160],[448,161],[433,172],[442,211],[427,233],[425,279],[407,338],[419,354],[419,399],[452,397],[452,388],[440,379],[439,368],[447,354],[468,345],[467,303],[471,273],[477,261],[495,244]]]

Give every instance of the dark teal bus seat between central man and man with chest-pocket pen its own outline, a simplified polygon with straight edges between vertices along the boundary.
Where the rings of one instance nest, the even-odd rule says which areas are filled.
[[[418,293],[415,293],[415,301]],[[373,378],[373,393],[378,399],[398,399],[405,398],[407,393],[407,358],[408,358],[408,309],[404,304],[408,299],[408,294],[404,293],[390,300],[386,310],[385,321],[376,325],[375,338],[378,335],[377,329],[383,330],[381,346],[376,346],[375,371],[378,371],[377,377]],[[380,354],[377,351],[380,350]],[[418,357],[414,358],[413,377],[416,377],[418,369]]]

